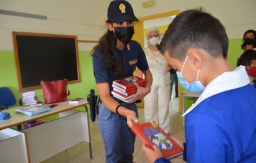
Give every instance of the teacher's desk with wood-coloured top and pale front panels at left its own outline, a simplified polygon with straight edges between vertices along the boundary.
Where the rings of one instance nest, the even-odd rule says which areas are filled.
[[[41,162],[82,142],[89,143],[92,159],[91,139],[87,101],[70,105],[68,101],[57,103],[50,112],[34,116],[16,113],[20,107],[3,110],[11,114],[10,119],[0,121],[0,158],[1,162]],[[50,106],[51,104],[44,104]],[[73,108],[85,107],[85,112]],[[28,123],[50,115],[59,114],[59,119],[45,124],[17,131],[12,126]]]

